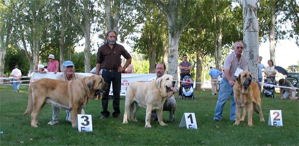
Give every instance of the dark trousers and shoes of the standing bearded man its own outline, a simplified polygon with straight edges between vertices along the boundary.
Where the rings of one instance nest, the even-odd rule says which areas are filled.
[[[108,111],[108,102],[109,102],[109,90],[112,82],[112,89],[113,89],[113,96],[114,96],[113,99],[114,112],[112,113],[112,116],[118,117],[121,113],[120,91],[121,91],[122,74],[119,72],[103,71],[102,77],[104,78],[105,82],[108,83],[108,90],[106,90],[106,92],[103,94],[103,98],[102,98],[103,111],[101,112],[101,114],[105,117],[108,117],[110,115],[110,112]]]

